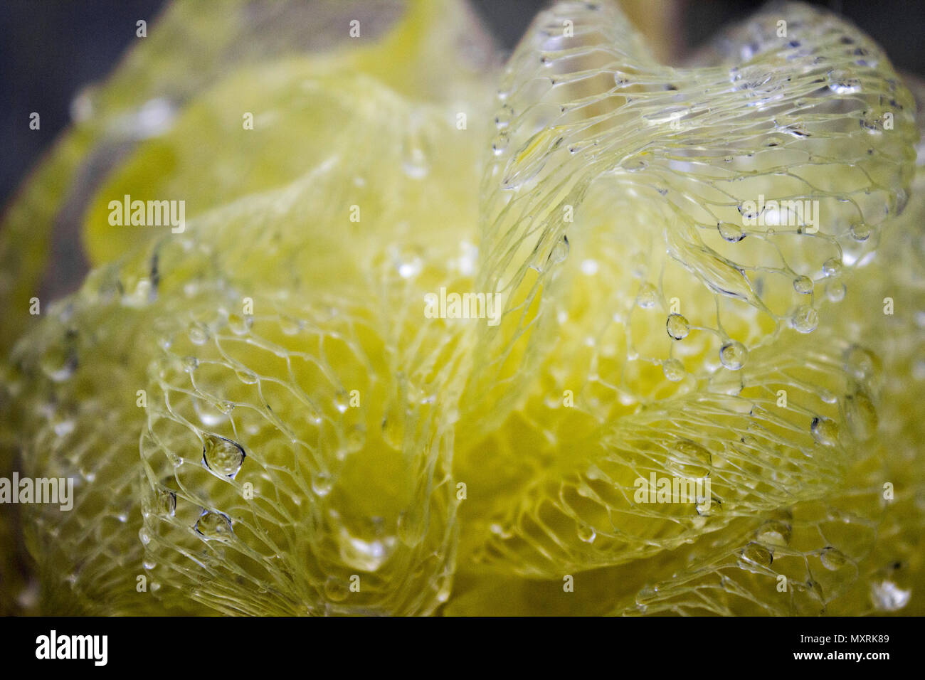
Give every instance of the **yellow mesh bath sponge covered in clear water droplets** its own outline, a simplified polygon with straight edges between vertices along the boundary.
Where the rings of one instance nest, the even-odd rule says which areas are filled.
[[[920,612],[925,206],[882,50],[771,6],[668,68],[616,6],[559,3],[491,114],[467,21],[216,56],[97,180],[117,263],[6,367],[7,458],[78,483],[19,509],[41,611]],[[113,142],[109,106],[53,170]],[[186,230],[127,237],[125,193],[186,197]],[[440,288],[500,324],[425,317]],[[640,503],[650,475],[709,499]]]

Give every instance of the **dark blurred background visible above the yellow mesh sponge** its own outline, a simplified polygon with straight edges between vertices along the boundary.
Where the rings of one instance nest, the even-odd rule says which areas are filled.
[[[221,2],[221,0],[202,0]],[[310,2],[311,0],[306,0]],[[470,0],[511,49],[548,0]],[[639,0],[646,2],[646,0]],[[682,0],[680,29],[688,48],[723,24],[743,19],[763,0]],[[925,2],[922,0],[820,0],[880,43],[899,70],[925,75]],[[103,78],[135,36],[149,29],[165,0],[0,0],[0,205],[69,122],[75,93]],[[42,129],[29,129],[29,114]]]

